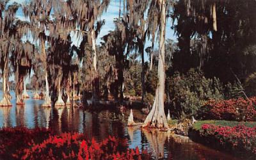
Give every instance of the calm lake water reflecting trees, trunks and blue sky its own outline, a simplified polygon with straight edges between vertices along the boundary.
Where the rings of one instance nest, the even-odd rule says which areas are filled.
[[[32,93],[29,92],[30,97]],[[147,148],[154,158],[165,159],[237,159],[229,154],[195,143],[188,138],[171,136],[167,132],[149,132],[140,127],[127,127],[129,111],[101,111],[89,113],[79,108],[42,108],[43,100],[26,100],[25,106],[16,106],[15,93],[12,107],[0,107],[0,127],[47,127],[54,132],[83,132],[88,138],[103,140],[109,135],[127,138],[129,147]],[[0,92],[0,97],[2,93]],[[145,117],[134,111],[134,118]],[[137,120],[138,121],[138,120]]]

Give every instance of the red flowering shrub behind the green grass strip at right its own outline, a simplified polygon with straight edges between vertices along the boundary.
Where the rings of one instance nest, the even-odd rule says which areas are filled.
[[[203,119],[256,121],[256,97],[250,100],[210,100],[198,114]]]

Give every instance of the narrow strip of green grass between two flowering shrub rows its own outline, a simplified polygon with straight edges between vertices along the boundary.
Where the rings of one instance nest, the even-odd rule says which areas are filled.
[[[221,126],[235,127],[237,125],[245,125],[246,127],[255,127],[256,122],[236,122],[236,121],[227,121],[227,120],[198,120],[193,124],[193,129],[200,130],[202,129],[203,124],[214,124]]]

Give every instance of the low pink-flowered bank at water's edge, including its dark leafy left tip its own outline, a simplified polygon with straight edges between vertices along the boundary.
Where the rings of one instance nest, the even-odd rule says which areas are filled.
[[[256,127],[203,124],[199,130],[191,129],[189,137],[246,157],[256,155]]]

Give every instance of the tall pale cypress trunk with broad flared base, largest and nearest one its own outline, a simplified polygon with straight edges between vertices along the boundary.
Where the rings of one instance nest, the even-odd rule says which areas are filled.
[[[159,35],[159,61],[158,74],[159,82],[156,89],[156,97],[150,113],[144,121],[143,127],[168,128],[166,115],[164,113],[164,41],[165,41],[165,26],[166,26],[166,3],[165,0],[159,0],[161,4],[161,20],[160,20],[160,35]]]

